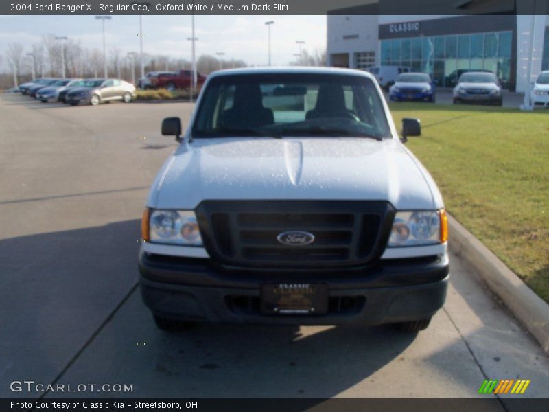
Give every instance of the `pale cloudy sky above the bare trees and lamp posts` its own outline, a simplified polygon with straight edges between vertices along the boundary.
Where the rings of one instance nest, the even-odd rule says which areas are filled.
[[[242,59],[250,65],[265,65],[267,26],[273,20],[272,64],[285,65],[299,52],[296,40],[305,41],[304,49],[326,47],[326,16],[196,16],[197,56],[224,52],[224,58]],[[139,16],[112,16],[106,21],[107,52],[119,47],[139,52]],[[82,47],[102,50],[101,22],[94,16],[0,16],[0,55],[8,43],[19,42],[30,52],[43,34],[68,36],[80,40]],[[143,52],[165,54],[190,60],[191,16],[143,16]],[[7,71],[5,56],[0,66]]]

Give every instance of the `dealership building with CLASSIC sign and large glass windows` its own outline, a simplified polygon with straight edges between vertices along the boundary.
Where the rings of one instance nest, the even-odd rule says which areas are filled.
[[[467,70],[491,71],[511,91],[527,90],[539,71],[549,70],[547,15],[346,15],[337,10],[328,14],[327,25],[331,66],[411,67],[430,73],[441,87],[452,87]]]

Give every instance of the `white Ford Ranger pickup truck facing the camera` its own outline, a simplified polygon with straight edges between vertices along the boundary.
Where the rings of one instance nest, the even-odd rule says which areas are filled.
[[[447,218],[369,73],[209,76],[143,214],[140,286],[159,328],[193,321],[426,328]],[[404,119],[406,135],[419,121]]]

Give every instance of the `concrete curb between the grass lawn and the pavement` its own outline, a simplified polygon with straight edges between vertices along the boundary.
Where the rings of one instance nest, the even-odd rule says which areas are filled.
[[[515,317],[535,336],[549,353],[549,304],[537,296],[505,264],[467,231],[448,216],[449,249],[471,265],[498,295]]]

